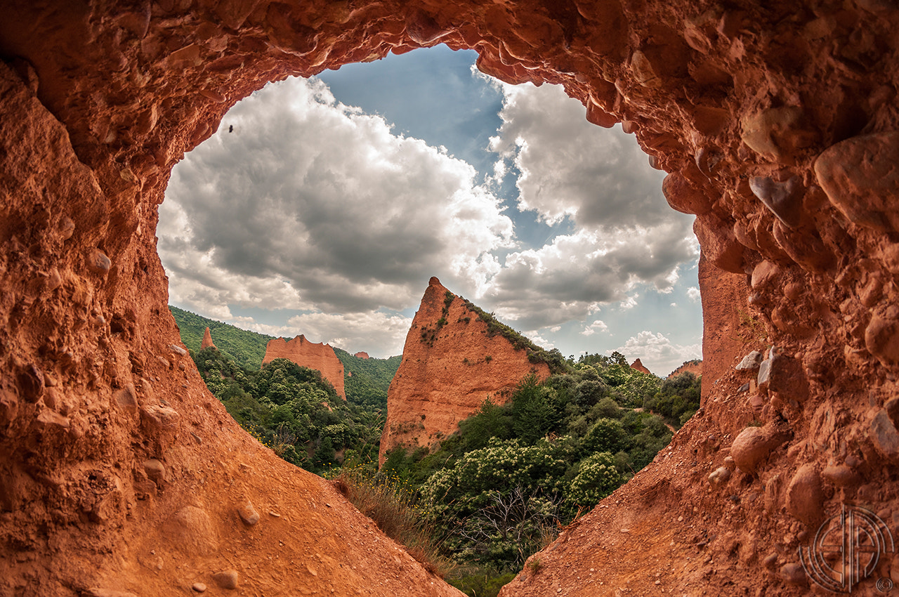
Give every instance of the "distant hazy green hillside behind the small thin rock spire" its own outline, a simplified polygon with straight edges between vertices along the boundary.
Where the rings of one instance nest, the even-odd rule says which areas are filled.
[[[242,330],[234,325],[223,324],[171,305],[169,310],[172,311],[174,323],[181,332],[182,343],[191,352],[200,352],[203,333],[209,327],[212,342],[227,360],[235,361],[239,366],[250,370],[263,366],[265,346],[273,336]]]

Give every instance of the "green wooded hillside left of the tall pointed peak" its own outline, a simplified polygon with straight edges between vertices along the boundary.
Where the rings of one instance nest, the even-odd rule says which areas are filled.
[[[287,359],[262,367],[272,336],[170,308],[209,391],[237,423],[281,458],[316,473],[346,458],[377,459],[387,388],[400,357],[360,359],[335,348],[343,362],[344,402],[317,370]],[[207,327],[216,348],[200,350]]]

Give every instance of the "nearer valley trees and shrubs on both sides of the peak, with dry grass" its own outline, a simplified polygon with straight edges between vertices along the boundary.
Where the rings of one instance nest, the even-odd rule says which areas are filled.
[[[200,319],[201,337],[209,320]],[[346,402],[320,373],[284,359],[246,370],[215,349],[193,357],[245,429],[282,458],[333,478],[414,557],[476,597],[495,595],[561,528],[651,462],[699,408],[692,373],[663,380],[631,369],[618,352],[553,358],[546,380],[521,379],[508,404],[486,399],[438,446],[392,450],[378,470],[400,357],[334,352]]]

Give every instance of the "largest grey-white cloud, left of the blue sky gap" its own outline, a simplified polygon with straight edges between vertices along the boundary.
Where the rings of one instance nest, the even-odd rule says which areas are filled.
[[[432,275],[483,289],[512,220],[471,165],[295,78],[175,167],[157,236],[173,302],[346,315],[414,306]]]

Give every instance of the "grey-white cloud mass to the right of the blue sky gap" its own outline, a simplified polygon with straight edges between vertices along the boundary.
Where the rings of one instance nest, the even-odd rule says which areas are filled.
[[[663,173],[636,140],[586,124],[580,102],[556,85],[506,85],[491,148],[521,173],[519,207],[574,230],[508,254],[485,297],[528,327],[583,321],[603,303],[636,305],[640,283],[668,293],[695,259],[692,218],[665,202]],[[496,167],[505,172],[505,166]]]

